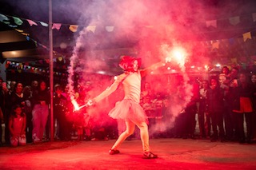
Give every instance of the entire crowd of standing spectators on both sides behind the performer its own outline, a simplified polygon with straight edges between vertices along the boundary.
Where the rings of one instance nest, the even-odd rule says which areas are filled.
[[[106,79],[109,81],[110,77]],[[162,79],[165,80],[166,75],[162,75]],[[190,77],[184,83],[184,77],[174,79],[176,81],[164,83],[142,81],[141,105],[149,120],[150,138],[254,142],[256,74],[225,66],[222,73],[203,80]],[[0,129],[1,144],[17,146],[49,140],[52,121],[46,81],[32,81],[25,87],[22,82],[11,81],[7,87],[3,83],[0,79],[0,121],[5,127],[4,139]],[[95,96],[96,89],[106,88],[105,84],[102,76],[87,78],[76,85],[74,100],[83,105]],[[120,93],[122,89],[106,100],[113,101],[110,105],[117,105]],[[122,121],[108,117],[108,109],[112,106],[104,101],[100,107],[75,111],[67,85],[54,85],[53,100],[55,140],[109,140],[117,138],[123,130]],[[132,137],[138,137],[138,133]]]

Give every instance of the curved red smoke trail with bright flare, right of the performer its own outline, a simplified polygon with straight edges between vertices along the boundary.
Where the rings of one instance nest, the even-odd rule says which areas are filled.
[[[178,79],[177,84],[171,84],[166,82],[166,79],[163,80],[162,84],[168,84],[172,93],[170,94],[169,102],[171,105],[167,106],[169,114],[171,117],[168,117],[165,122],[158,122],[150,128],[150,133],[158,134],[159,132],[166,132],[167,129],[174,127],[174,122],[180,113],[184,112],[186,106],[190,103],[191,98],[193,97],[193,85],[190,84],[190,77],[186,73],[186,57],[189,56],[189,53],[186,52],[181,46],[170,46],[167,44],[161,45],[161,53],[163,57],[166,57],[166,61],[170,61],[171,66],[177,66],[180,70],[180,77],[174,77]],[[168,77],[168,75],[166,75]]]

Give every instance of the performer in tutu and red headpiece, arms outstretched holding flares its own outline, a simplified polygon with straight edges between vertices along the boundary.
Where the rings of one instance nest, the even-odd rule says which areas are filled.
[[[118,75],[115,78],[115,81],[110,87],[105,91],[99,94],[94,99],[87,101],[86,105],[94,105],[99,101],[102,101],[103,98],[109,96],[111,93],[114,93],[118,89],[119,85],[123,85],[125,92],[125,97],[120,101],[119,105],[116,105],[114,109],[110,110],[109,116],[114,119],[122,119],[126,121],[126,131],[118,137],[118,140],[114,143],[112,148],[110,148],[110,155],[118,154],[118,147],[128,136],[134,133],[134,126],[137,125],[140,129],[143,156],[144,158],[157,158],[158,156],[150,152],[149,145],[149,132],[147,126],[147,117],[146,113],[139,105],[140,94],[141,94],[141,81],[142,77],[146,76],[147,73],[150,73],[154,69],[165,65],[164,62],[158,62],[146,69],[139,69],[141,65],[141,59],[123,56],[119,63],[119,66],[124,70],[124,73]],[[82,106],[81,106],[82,107]]]

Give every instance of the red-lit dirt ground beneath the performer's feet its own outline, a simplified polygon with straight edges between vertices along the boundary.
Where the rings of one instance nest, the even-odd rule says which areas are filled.
[[[54,141],[0,147],[0,169],[256,169],[256,144],[192,139],[150,140],[158,159],[142,158],[140,140],[126,140],[109,155],[114,140]]]

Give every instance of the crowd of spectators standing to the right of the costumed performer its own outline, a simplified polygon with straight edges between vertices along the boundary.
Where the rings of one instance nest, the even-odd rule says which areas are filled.
[[[170,93],[168,85],[162,85],[166,93],[160,97],[149,83],[145,83],[141,103],[153,126],[154,130],[150,131],[153,137],[248,144],[255,141],[256,74],[224,66],[221,73],[209,75],[207,79],[190,78],[188,85],[192,85],[190,101],[182,111],[175,111],[172,109],[177,105],[174,97],[181,95],[178,86],[174,88],[176,92]]]

